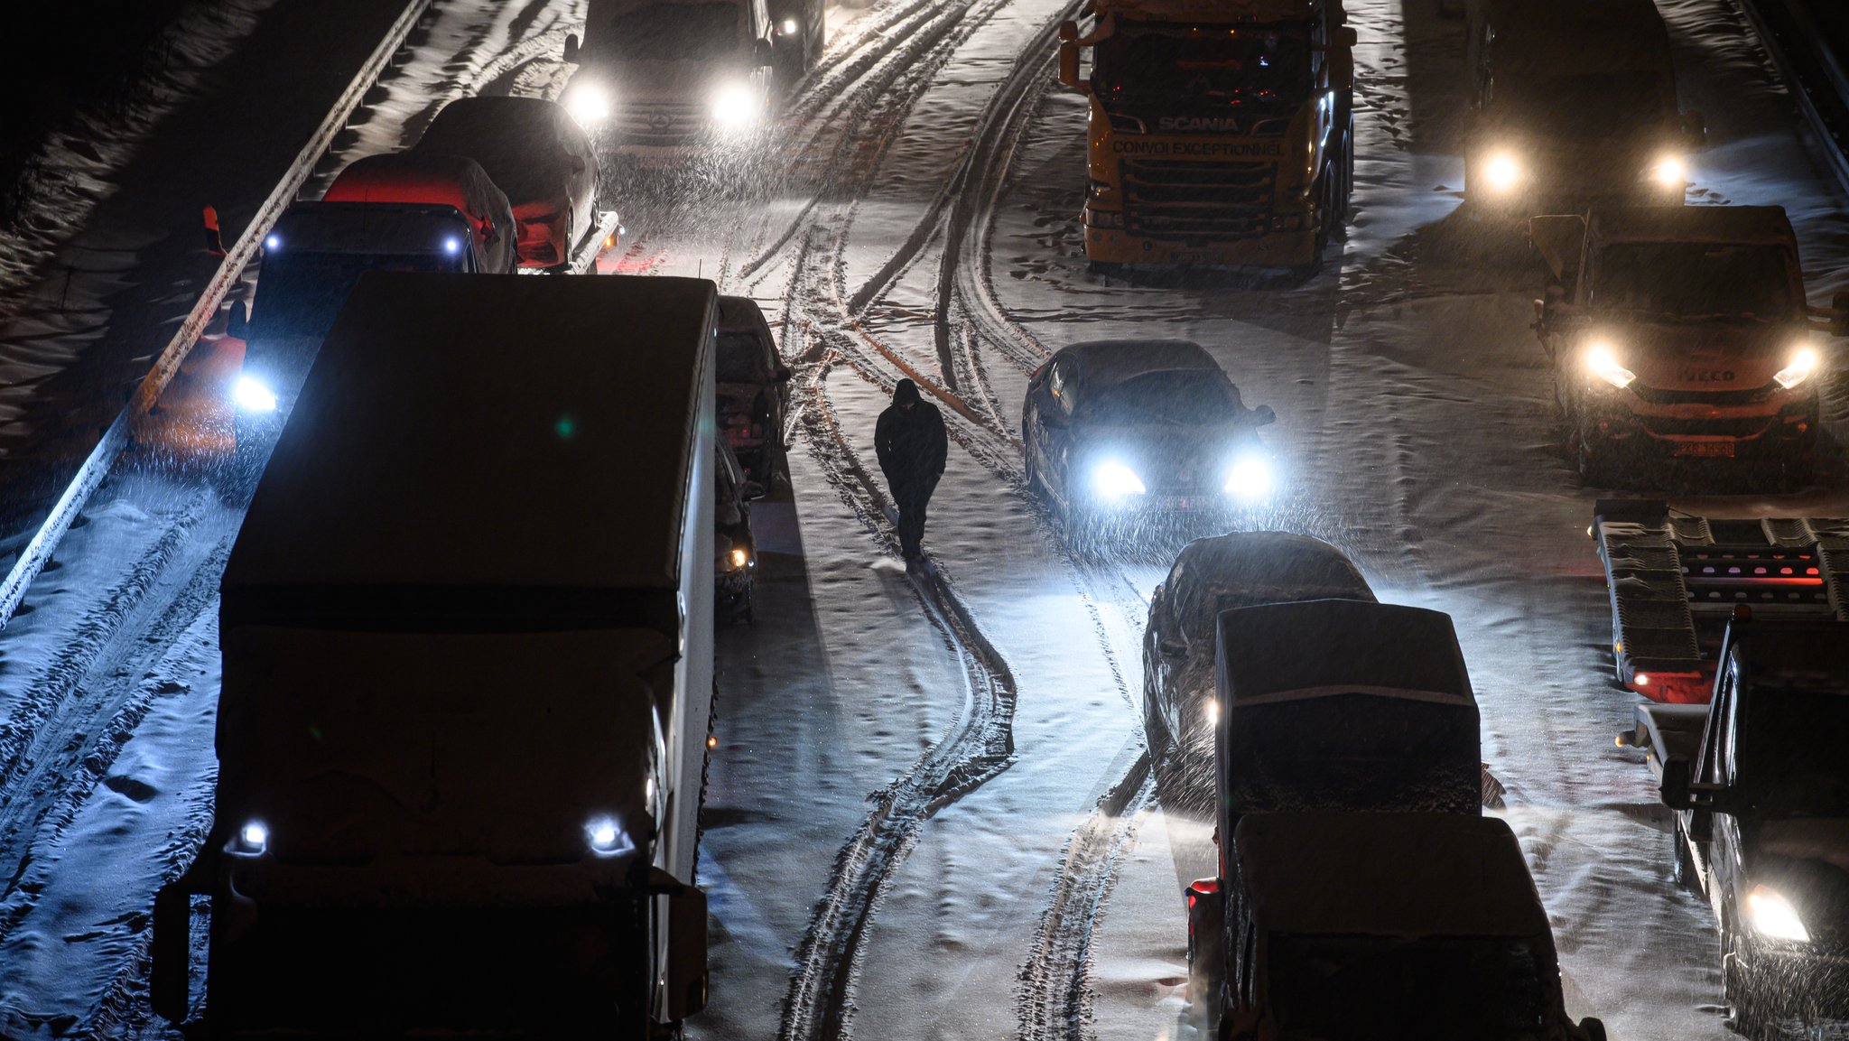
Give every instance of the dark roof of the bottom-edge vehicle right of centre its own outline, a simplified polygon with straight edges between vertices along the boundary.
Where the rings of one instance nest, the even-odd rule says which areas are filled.
[[[1509,825],[1468,814],[1246,814],[1233,830],[1259,928],[1549,936]]]

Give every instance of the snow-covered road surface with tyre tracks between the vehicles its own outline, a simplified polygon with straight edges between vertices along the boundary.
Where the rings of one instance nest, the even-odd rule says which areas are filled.
[[[788,105],[765,198],[603,200],[631,227],[606,268],[767,301],[799,370],[795,494],[756,512],[758,623],[719,638],[714,982],[690,1034],[1198,1034],[1182,886],[1211,869],[1209,828],[1150,769],[1137,712],[1163,562],[1071,557],[1015,440],[1037,359],[1137,335],[1206,344],[1248,405],[1276,409],[1291,488],[1270,523],[1344,547],[1381,599],[1455,618],[1570,1011],[1612,1037],[1729,1037],[1710,917],[1670,884],[1647,775],[1610,741],[1631,695],[1603,651],[1598,492],[1557,446],[1527,329],[1540,270],[1516,227],[1457,213],[1463,24],[1427,0],[1350,0],[1359,157],[1339,263],[1302,287],[1126,287],[1080,255],[1084,105],[1050,87],[1067,7],[882,0]],[[1660,7],[1684,107],[1710,128],[1692,202],[1786,205],[1829,300],[1849,281],[1843,196],[1740,11]],[[538,50],[501,83],[557,91],[557,67],[521,65]],[[904,375],[952,435],[928,577],[897,564],[871,462]],[[1814,490],[1675,503],[1840,516],[1840,381],[1825,414]],[[116,481],[87,516],[0,642],[0,1032],[159,1035],[146,908],[202,827],[213,581],[237,518],[163,473]]]

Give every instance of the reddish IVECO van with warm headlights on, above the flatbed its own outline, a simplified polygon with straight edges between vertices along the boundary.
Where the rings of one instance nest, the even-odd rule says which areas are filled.
[[[1831,368],[1781,207],[1623,207],[1537,216],[1535,333],[1588,483],[1675,460],[1808,477]],[[1838,307],[1845,305],[1838,294]]]

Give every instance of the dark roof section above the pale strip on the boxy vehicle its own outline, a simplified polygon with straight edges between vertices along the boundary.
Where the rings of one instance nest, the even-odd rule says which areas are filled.
[[[1352,599],[1220,612],[1218,688],[1235,704],[1331,693],[1476,704],[1451,616]]]

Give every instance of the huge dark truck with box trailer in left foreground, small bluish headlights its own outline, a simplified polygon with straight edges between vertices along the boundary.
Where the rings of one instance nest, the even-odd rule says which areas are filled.
[[[716,290],[370,274],[222,584],[218,786],[163,889],[211,1034],[594,1030],[704,1004]]]

